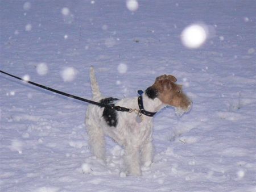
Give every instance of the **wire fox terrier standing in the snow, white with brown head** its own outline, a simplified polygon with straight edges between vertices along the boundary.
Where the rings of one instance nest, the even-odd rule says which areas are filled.
[[[95,105],[88,106],[86,127],[93,155],[105,159],[104,136],[109,136],[125,149],[129,174],[141,175],[141,165],[150,166],[153,158],[152,115],[142,111],[154,114],[165,106],[173,106],[176,114],[182,115],[191,109],[191,100],[183,93],[181,85],[175,84],[176,78],[166,74],[157,77],[155,83],[141,93],[141,103],[138,102],[138,97],[121,100],[102,97],[93,67],[90,68],[90,81],[93,101],[131,109],[130,112],[122,112]],[[144,108],[138,110],[141,105]]]

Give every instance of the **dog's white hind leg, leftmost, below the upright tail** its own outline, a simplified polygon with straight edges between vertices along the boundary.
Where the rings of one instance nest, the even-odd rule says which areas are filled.
[[[86,120],[86,126],[93,155],[105,161],[105,137],[103,130],[97,125],[89,123],[89,120]]]

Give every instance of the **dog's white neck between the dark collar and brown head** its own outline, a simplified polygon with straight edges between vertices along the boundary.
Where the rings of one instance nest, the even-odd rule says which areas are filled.
[[[154,98],[154,99],[151,99],[151,98],[148,97],[148,95],[146,93],[143,93],[142,99],[143,99],[144,110],[146,110],[146,111],[158,112],[163,107],[166,106],[157,97]]]

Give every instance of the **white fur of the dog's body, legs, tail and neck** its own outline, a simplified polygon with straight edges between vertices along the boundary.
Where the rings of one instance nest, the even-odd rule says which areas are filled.
[[[102,98],[98,87],[94,69],[90,69],[93,100],[100,101]],[[126,108],[139,109],[138,97],[118,100],[115,105]],[[158,98],[154,100],[143,94],[143,104],[147,111],[156,112],[164,105]],[[102,117],[104,108],[89,105],[86,112],[86,128],[89,134],[89,144],[92,153],[97,158],[105,160],[104,136],[112,137],[119,145],[125,148],[125,162],[129,173],[135,176],[141,175],[141,164],[149,166],[152,162],[152,117],[142,115],[142,122],[136,122],[135,112],[117,111],[118,124],[110,127]]]

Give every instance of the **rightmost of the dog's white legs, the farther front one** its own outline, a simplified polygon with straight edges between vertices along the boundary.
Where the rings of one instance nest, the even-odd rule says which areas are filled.
[[[152,141],[148,141],[148,143],[142,145],[141,148],[141,155],[142,155],[142,162],[145,166],[150,166],[152,163],[152,157],[153,157],[153,145]]]

